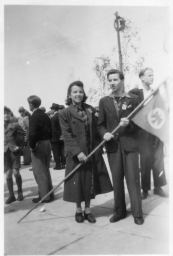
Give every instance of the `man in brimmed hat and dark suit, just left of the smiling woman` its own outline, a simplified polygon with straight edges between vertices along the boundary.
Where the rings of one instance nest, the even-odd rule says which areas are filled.
[[[62,137],[62,131],[59,121],[59,104],[52,103],[52,106],[50,107],[52,118],[52,139],[51,139],[51,145],[52,145],[52,152],[53,157],[55,161],[55,167],[54,170],[61,170],[65,168],[65,157],[64,157],[64,141]]]

